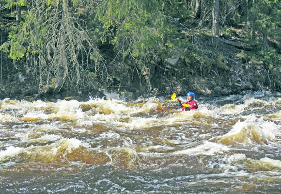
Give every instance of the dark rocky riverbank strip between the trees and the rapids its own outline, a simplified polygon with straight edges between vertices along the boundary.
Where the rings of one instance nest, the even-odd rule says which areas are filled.
[[[2,90],[0,98],[22,99],[28,101],[44,100],[56,101],[57,99],[79,101],[87,100],[89,97],[106,97],[107,93],[116,93],[120,97],[125,97],[127,100],[134,100],[138,97],[153,97],[153,96],[171,96],[172,93],[184,95],[187,91],[193,91],[198,96],[227,96],[230,94],[239,94],[247,91],[271,90],[269,85],[266,85],[266,79],[269,77],[265,69],[262,69],[263,62],[253,62],[239,57],[233,59],[229,56],[224,57],[223,62],[227,65],[228,70],[210,70],[209,76],[193,75],[187,76],[185,79],[176,79],[169,77],[166,81],[154,80],[154,86],[150,91],[142,91],[133,83],[130,88],[120,89],[111,88],[82,88],[80,90],[62,87],[60,92],[54,92],[46,86],[39,86],[32,82],[27,74],[22,70],[18,70],[15,66],[6,65],[8,68],[2,70]],[[255,63],[253,65],[253,63]],[[167,65],[176,66],[174,71],[185,71],[186,66],[182,65],[180,58],[175,61],[167,61]],[[260,67],[260,68],[257,68]],[[167,70],[169,71],[169,70]],[[155,73],[156,74],[156,73]],[[40,93],[41,91],[41,93]],[[44,91],[44,92],[42,92]]]

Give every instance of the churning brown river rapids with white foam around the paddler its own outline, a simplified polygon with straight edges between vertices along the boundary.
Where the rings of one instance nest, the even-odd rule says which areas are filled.
[[[280,194],[281,93],[196,101],[3,99],[0,194]]]

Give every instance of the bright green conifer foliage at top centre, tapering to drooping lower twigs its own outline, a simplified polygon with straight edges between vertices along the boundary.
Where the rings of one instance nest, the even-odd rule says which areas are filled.
[[[101,40],[114,47],[116,59],[129,60],[125,69],[112,66],[112,72],[136,71],[140,80],[150,85],[154,60],[163,50],[174,49],[171,34],[176,28],[164,11],[171,6],[174,3],[169,0],[106,0],[98,5]]]

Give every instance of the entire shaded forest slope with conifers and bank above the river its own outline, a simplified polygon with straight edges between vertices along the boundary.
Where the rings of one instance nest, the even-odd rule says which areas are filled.
[[[281,90],[281,0],[0,0],[0,98]]]

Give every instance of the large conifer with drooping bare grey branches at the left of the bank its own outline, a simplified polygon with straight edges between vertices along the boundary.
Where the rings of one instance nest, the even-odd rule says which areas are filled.
[[[42,88],[51,80],[55,80],[58,91],[64,83],[80,87],[87,80],[84,68],[90,66],[90,59],[96,66],[101,63],[94,36],[89,37],[85,21],[73,12],[83,7],[80,3],[84,5],[85,1],[36,0],[29,3],[22,16],[23,22],[13,28],[8,42],[0,48],[8,52],[11,59],[31,62],[24,63],[24,68],[36,75]],[[94,2],[87,3],[90,6]]]

